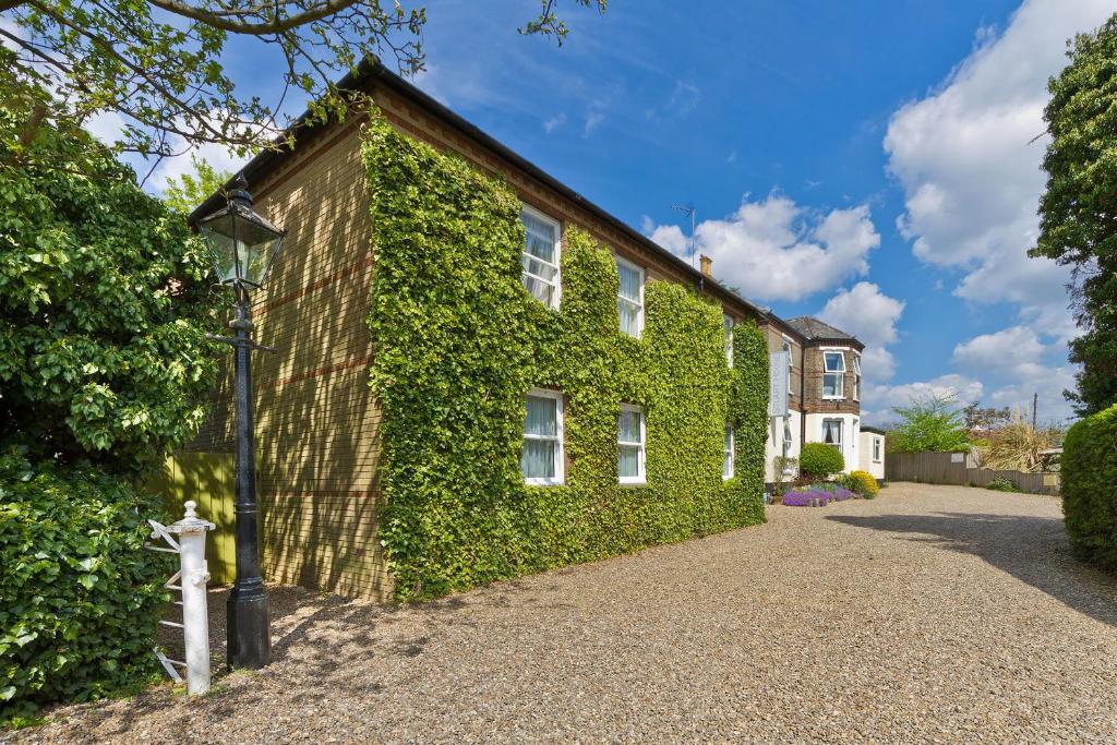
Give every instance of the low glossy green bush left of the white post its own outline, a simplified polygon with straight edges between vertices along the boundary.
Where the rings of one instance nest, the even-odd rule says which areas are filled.
[[[0,456],[0,722],[89,700],[157,669],[164,554],[155,497],[89,468]]]

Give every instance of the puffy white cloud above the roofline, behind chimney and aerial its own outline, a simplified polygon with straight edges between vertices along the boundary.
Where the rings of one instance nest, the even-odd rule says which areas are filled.
[[[676,226],[645,232],[674,254],[689,258],[689,241]],[[798,300],[869,270],[868,254],[880,246],[868,206],[836,209],[821,218],[787,197],[747,195],[724,220],[696,229],[697,250],[714,260],[714,275],[762,300]]]

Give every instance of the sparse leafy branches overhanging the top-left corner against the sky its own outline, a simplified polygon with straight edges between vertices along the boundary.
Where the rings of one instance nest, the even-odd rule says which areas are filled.
[[[605,0],[572,2],[605,10]],[[561,45],[569,29],[555,6],[543,0],[521,32]],[[312,102],[306,123],[343,116],[336,79],[366,57],[423,68],[427,16],[398,0],[0,0],[0,20],[10,21],[0,23],[0,93],[22,112],[23,136],[45,118],[79,125],[109,113],[122,151],[166,156],[204,143],[241,154],[280,145],[290,93]],[[237,93],[223,65],[237,37],[277,56],[275,103]]]

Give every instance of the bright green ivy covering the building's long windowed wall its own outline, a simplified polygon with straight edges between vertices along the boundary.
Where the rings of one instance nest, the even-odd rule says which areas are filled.
[[[689,289],[646,288],[619,331],[611,251],[567,228],[561,311],[521,285],[521,202],[499,178],[392,130],[365,131],[375,241],[370,371],[383,407],[380,535],[400,599],[685,541],[764,519],[767,348]],[[564,394],[562,487],[525,487],[524,395]],[[647,411],[648,485],[617,474],[621,402]],[[736,422],[736,477],[722,479]]]

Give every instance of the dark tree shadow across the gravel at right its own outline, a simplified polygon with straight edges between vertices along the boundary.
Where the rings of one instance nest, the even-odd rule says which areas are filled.
[[[825,519],[978,556],[1068,608],[1117,625],[1117,577],[1073,557],[1060,518],[936,513],[830,515]]]

